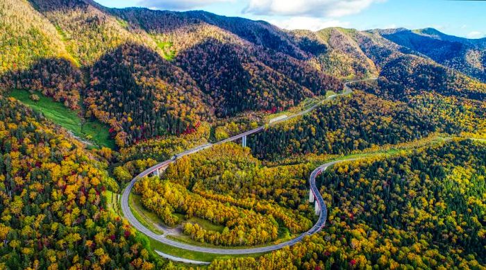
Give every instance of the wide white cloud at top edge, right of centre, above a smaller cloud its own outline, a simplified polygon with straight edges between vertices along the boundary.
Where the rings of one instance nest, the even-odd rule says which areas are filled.
[[[249,0],[244,13],[306,17],[342,17],[385,0]]]

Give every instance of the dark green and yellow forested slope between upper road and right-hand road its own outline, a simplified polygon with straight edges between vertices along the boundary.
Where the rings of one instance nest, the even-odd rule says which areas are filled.
[[[367,91],[373,92],[376,87],[370,86]],[[275,159],[308,153],[346,154],[410,142],[435,132],[482,133],[486,124],[484,108],[484,102],[437,94],[402,102],[355,92],[349,98],[252,135],[249,146],[256,156]]]

